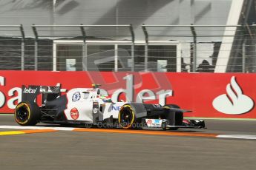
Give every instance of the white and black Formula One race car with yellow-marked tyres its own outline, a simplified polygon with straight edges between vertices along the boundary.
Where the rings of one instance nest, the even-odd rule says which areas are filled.
[[[203,120],[183,120],[179,106],[169,104],[113,102],[102,96],[99,85],[70,89],[61,95],[59,86],[22,86],[22,102],[15,109],[15,120],[22,126],[36,123],[118,127],[205,128]]]

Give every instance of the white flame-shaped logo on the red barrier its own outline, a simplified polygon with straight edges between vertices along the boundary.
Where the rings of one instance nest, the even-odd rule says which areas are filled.
[[[231,78],[231,83],[226,86],[227,94],[218,96],[212,102],[214,109],[229,115],[239,115],[249,112],[254,101],[249,96],[243,95],[242,89],[235,81],[235,77]]]

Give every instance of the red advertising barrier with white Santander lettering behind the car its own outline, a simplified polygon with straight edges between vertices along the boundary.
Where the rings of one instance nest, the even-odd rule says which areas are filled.
[[[186,117],[256,118],[256,74],[0,71],[0,113],[13,113],[22,85],[60,85],[62,93],[102,84],[112,101],[175,103]]]

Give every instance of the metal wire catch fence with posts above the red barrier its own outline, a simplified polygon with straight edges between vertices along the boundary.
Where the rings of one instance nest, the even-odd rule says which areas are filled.
[[[0,68],[54,71],[256,72],[256,25],[0,26]]]

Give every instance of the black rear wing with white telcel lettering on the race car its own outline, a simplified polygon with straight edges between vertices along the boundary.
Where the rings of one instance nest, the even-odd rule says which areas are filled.
[[[48,94],[60,95],[60,86],[22,86],[22,101],[35,102],[39,94],[42,94],[42,101],[45,101]]]

